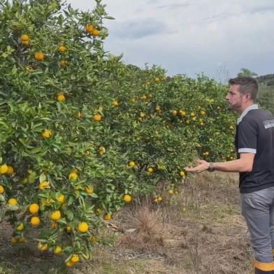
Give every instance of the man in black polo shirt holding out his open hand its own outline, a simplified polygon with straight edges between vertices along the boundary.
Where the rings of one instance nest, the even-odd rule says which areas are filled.
[[[250,231],[256,274],[274,274],[274,117],[254,104],[257,80],[229,80],[228,109],[240,115],[235,146],[237,159],[222,163],[197,160],[185,171],[240,173],[241,210]]]

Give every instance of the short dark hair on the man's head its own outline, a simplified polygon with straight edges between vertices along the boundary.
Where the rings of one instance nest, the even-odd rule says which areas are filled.
[[[239,85],[240,94],[251,94],[251,99],[256,101],[258,94],[258,82],[252,77],[236,77],[229,80],[229,85]]]

